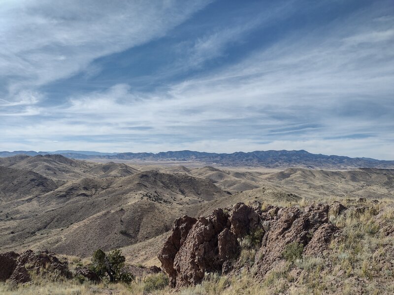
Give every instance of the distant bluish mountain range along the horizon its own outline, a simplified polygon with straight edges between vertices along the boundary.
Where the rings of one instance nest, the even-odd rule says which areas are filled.
[[[131,160],[131,161],[192,161],[222,166],[262,166],[268,168],[305,167],[305,168],[394,168],[394,161],[376,160],[372,158],[351,158],[346,156],[313,154],[306,150],[267,150],[234,153],[210,153],[191,150],[149,152],[103,153],[96,151],[0,151],[0,157],[14,155],[61,154],[67,158],[82,160]]]

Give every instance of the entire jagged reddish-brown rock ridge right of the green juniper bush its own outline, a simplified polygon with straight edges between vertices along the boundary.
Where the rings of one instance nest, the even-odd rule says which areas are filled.
[[[335,210],[343,210],[334,204]],[[328,222],[329,205],[304,208],[261,208],[238,203],[227,209],[216,209],[198,219],[178,218],[170,236],[158,255],[172,287],[196,285],[205,273],[230,273],[237,267],[241,243],[252,237],[257,243],[256,277],[263,278],[282,259],[286,246],[292,242],[303,245],[303,254],[318,255],[327,249],[339,229]]]

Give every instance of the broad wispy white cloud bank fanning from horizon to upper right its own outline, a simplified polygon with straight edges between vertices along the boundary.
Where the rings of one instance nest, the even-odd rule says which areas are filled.
[[[276,21],[283,22],[281,28],[295,22],[298,7],[304,7],[300,3],[259,11],[256,20],[243,16],[245,22],[188,36],[187,44],[163,43],[175,53],[184,49],[167,67],[186,71],[183,78],[160,82],[166,68],[160,65],[144,77],[159,81],[150,90],[116,81],[95,91],[76,89],[58,104],[35,109],[34,119],[24,118],[29,113],[23,110],[6,117],[7,129],[0,136],[15,147],[47,150],[307,149],[393,159],[394,18],[389,2],[298,29],[287,25],[283,34],[268,36]],[[236,59],[221,60],[234,44],[268,37],[270,42],[250,50],[237,47]]]

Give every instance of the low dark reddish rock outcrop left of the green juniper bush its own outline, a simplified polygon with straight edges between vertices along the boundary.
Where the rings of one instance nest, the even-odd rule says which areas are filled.
[[[30,273],[40,273],[43,269],[55,276],[70,277],[68,264],[60,262],[54,253],[48,250],[33,252],[27,250],[22,254],[6,252],[0,254],[0,280],[12,280],[17,283],[31,281]]]

